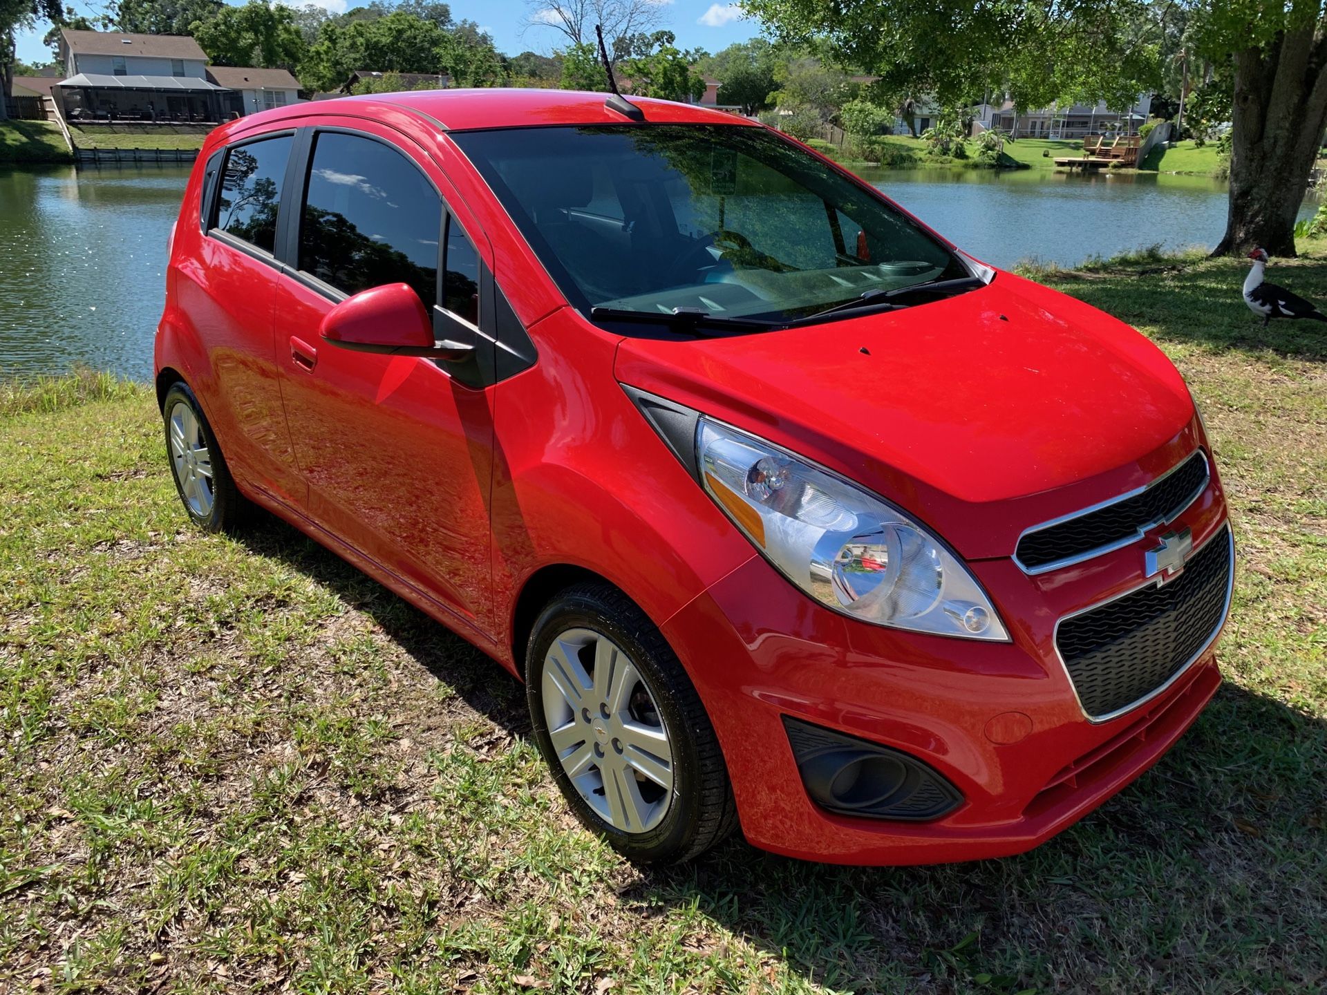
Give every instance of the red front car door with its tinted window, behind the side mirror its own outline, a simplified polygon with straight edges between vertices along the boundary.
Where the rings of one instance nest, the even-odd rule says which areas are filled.
[[[480,337],[487,353],[442,364],[318,337],[337,302],[390,283],[419,295],[439,338],[478,333],[478,240],[446,210],[442,174],[390,129],[316,127],[303,146],[304,198],[287,232],[276,328],[308,515],[484,633],[491,342]]]

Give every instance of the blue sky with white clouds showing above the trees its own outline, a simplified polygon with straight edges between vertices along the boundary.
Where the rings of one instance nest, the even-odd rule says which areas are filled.
[[[228,0],[230,1],[230,0]],[[76,11],[85,15],[101,12],[96,0],[70,0]],[[295,0],[292,5],[300,5]],[[318,7],[333,12],[358,5],[360,0],[317,0]],[[515,56],[532,50],[549,53],[560,44],[561,34],[552,28],[524,28],[529,8],[524,0],[449,0],[451,16],[456,20],[471,20],[492,34],[499,52]],[[678,48],[703,48],[709,52],[746,41],[758,33],[758,24],[740,16],[736,4],[714,3],[714,0],[661,0],[665,27],[677,34]],[[49,25],[37,31],[23,32],[17,37],[19,58],[25,62],[45,61],[50,49],[41,44],[41,36]]]

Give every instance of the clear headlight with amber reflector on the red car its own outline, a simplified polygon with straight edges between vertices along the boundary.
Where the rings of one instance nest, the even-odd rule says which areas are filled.
[[[1009,639],[967,568],[880,498],[707,418],[697,454],[710,498],[788,580],[835,612],[920,633]]]

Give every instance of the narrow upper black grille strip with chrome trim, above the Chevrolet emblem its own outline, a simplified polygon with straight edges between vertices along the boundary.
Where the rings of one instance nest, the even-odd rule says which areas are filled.
[[[1083,557],[1133,539],[1184,511],[1208,484],[1208,460],[1198,450],[1177,470],[1132,498],[1089,511],[1058,525],[1028,532],[1018,540],[1016,557],[1024,570]]]

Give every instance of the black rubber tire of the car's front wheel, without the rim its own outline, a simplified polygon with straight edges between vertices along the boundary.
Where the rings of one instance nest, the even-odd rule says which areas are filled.
[[[544,718],[543,674],[553,639],[589,629],[612,639],[636,666],[658,708],[673,751],[673,791],[662,821],[632,833],[602,819],[572,784]],[[525,647],[525,695],[535,740],[581,823],[638,864],[681,864],[721,842],[736,825],[736,805],[714,727],[677,654],[621,590],[587,581],[564,590],[540,613]]]

